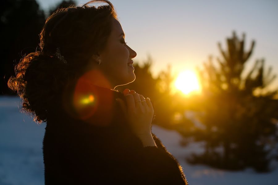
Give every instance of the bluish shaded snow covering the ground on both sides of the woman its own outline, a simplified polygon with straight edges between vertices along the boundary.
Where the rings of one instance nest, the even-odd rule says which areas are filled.
[[[20,113],[20,102],[19,97],[0,97],[0,185],[42,185],[42,139],[46,125],[36,125],[28,115]],[[184,158],[193,151],[200,152],[201,142],[180,147],[181,136],[177,132],[156,125],[152,132],[177,158],[191,185],[278,184],[278,168],[271,173],[258,174],[251,169],[229,172],[202,165],[191,166]]]

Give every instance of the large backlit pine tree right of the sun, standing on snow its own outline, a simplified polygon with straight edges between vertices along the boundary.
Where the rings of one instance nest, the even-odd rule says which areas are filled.
[[[196,128],[192,136],[196,141],[206,141],[205,152],[187,158],[192,163],[204,163],[213,167],[239,170],[253,167],[256,171],[269,171],[268,164],[276,156],[271,155],[277,142],[275,121],[278,119],[277,90],[267,90],[275,79],[272,68],[264,72],[264,60],[257,60],[246,77],[242,72],[252,54],[244,51],[244,40],[238,40],[235,32],[227,38],[227,51],[218,43],[223,59],[212,56],[197,69],[204,92],[200,102],[200,122],[205,129]],[[217,151],[222,146],[223,151]]]

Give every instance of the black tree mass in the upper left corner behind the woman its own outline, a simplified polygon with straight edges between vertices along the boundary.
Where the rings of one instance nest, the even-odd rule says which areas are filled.
[[[0,94],[15,95],[16,92],[8,88],[8,79],[15,75],[14,67],[20,58],[36,51],[45,22],[44,11],[40,10],[35,0],[5,1],[0,10]]]

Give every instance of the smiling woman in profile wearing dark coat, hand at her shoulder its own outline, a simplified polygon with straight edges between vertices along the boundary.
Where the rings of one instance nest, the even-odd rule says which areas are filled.
[[[106,2],[106,6],[88,6]],[[154,109],[134,90],[136,56],[109,1],[60,9],[9,87],[46,122],[45,184],[188,184],[179,162],[151,132]]]

